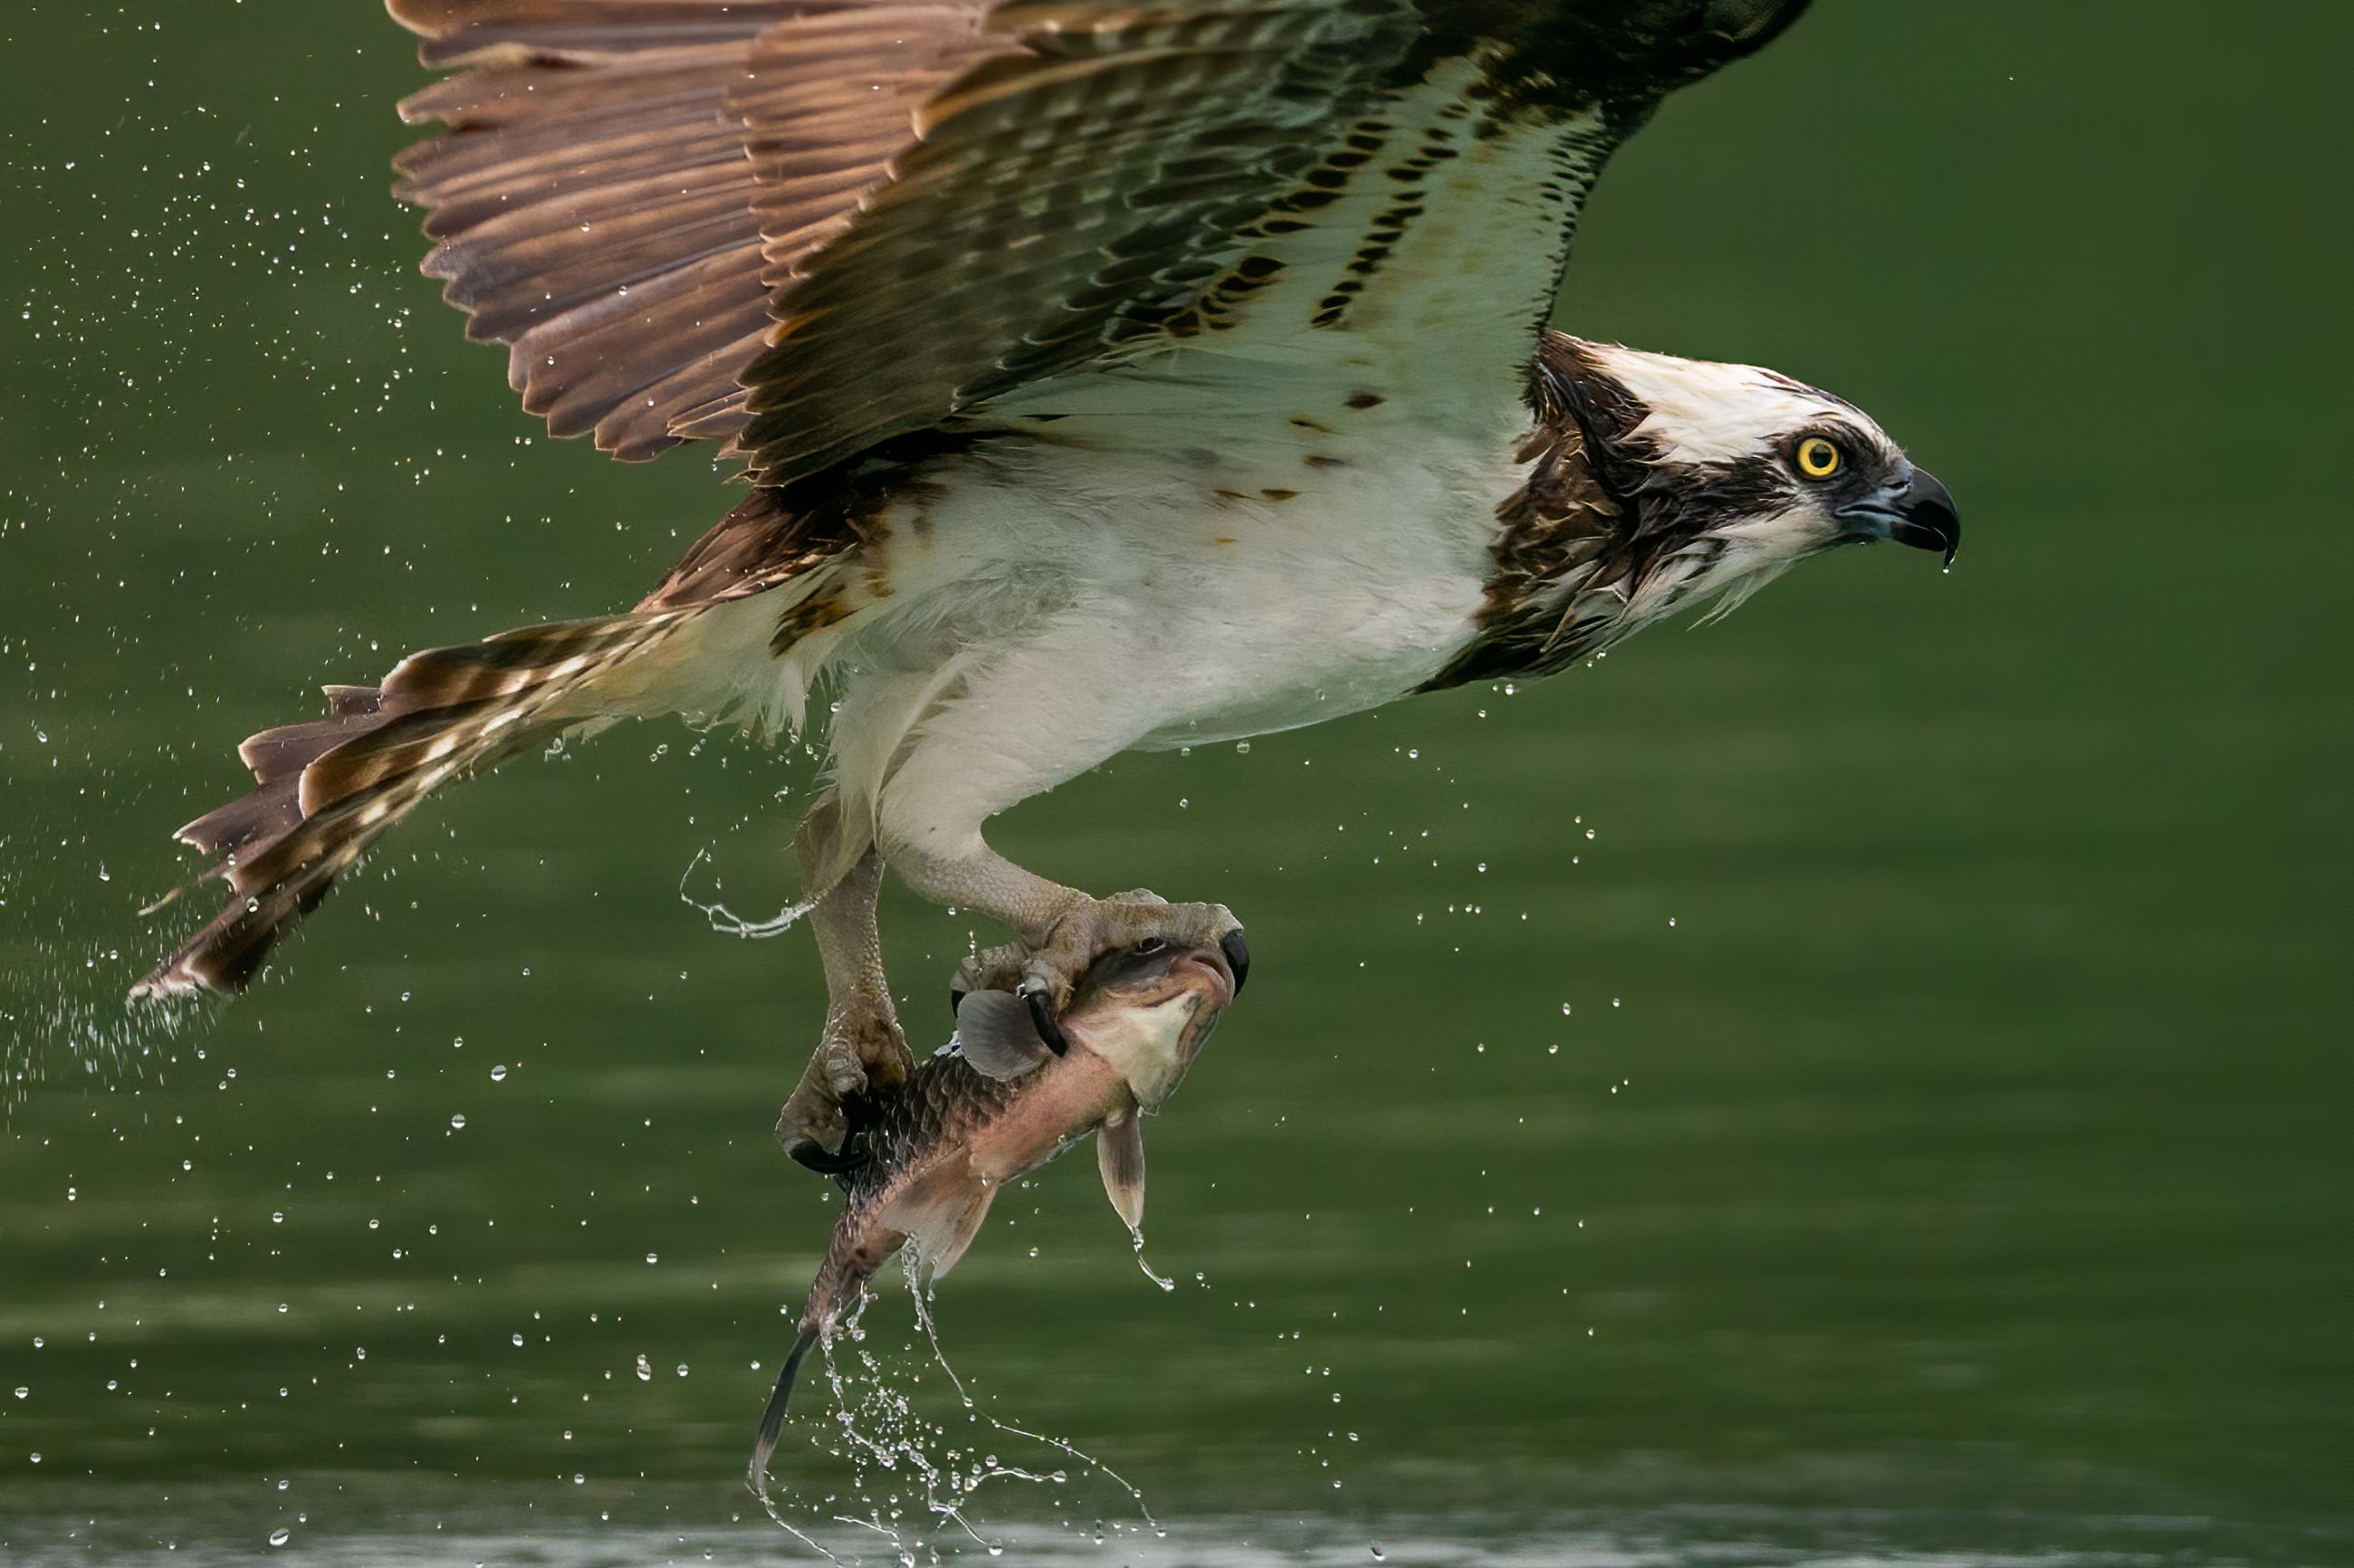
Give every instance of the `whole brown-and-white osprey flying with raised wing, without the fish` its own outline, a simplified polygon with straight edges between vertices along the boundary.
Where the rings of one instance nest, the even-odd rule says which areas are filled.
[[[1850,403],[1544,327],[1660,99],[1806,0],[388,0],[426,273],[556,436],[718,440],[749,494],[626,614],[330,687],[179,831],[228,904],[141,982],[233,991],[440,784],[687,713],[800,730],[826,1022],[779,1137],[911,1069],[890,864],[1003,923],[1036,1029],[1116,946],[1248,949],[984,824],[1130,746],[1563,669],[1841,544],[1951,558]],[[958,984],[982,972],[967,965]]]

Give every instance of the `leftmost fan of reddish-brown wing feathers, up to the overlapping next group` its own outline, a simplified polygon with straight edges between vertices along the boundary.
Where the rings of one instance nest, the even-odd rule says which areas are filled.
[[[676,445],[673,412],[737,396],[760,351],[758,177],[727,89],[784,5],[393,0],[428,66],[473,66],[403,108],[447,137],[395,160],[428,207],[424,271],[508,344],[508,381],[556,436],[624,459]],[[659,396],[650,400],[650,393]]]

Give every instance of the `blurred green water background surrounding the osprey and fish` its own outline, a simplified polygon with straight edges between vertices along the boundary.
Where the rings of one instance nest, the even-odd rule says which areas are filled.
[[[1855,398],[1956,570],[1841,553],[1000,824],[1257,954],[1151,1128],[1179,1290],[1073,1161],[939,1295],[989,1410],[1168,1528],[1069,1462],[979,1493],[1010,1561],[2354,1561],[2349,33],[1822,0],[1620,158],[1558,320]],[[734,1476],[833,1212],[767,1132],[819,984],[680,892],[789,897],[807,756],[508,765],[247,1001],[118,1003],[238,737],[621,607],[730,492],[544,440],[461,341],[377,5],[14,0],[0,49],[0,1559],[774,1549]],[[937,1043],[965,928],[887,930]],[[935,1448],[1064,1464],[909,1323],[864,1349]],[[831,1431],[789,1519],[918,1509]]]

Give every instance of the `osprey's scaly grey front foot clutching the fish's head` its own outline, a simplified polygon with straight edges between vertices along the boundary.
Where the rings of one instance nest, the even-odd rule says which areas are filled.
[[[892,866],[899,878],[935,904],[975,909],[1003,921],[1019,937],[1019,982],[1029,998],[1038,1034],[1057,1055],[1066,1050],[1055,1019],[1071,1003],[1071,986],[1088,965],[1109,951],[1149,942],[1184,942],[1224,949],[1236,984],[1250,968],[1243,925],[1224,904],[1170,904],[1146,892],[1118,892],[1109,899],[1088,897],[1078,888],[1050,883],[1012,864],[986,843],[965,855],[932,855],[897,845]],[[989,949],[958,965],[949,982],[951,1001],[972,989],[1003,986],[1015,972],[1017,954]]]

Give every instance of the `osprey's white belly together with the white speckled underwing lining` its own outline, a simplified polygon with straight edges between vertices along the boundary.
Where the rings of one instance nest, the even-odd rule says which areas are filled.
[[[977,838],[1118,751],[1337,718],[1464,647],[1587,165],[1577,127],[1457,120],[1448,71],[1379,113],[1384,158],[1316,226],[1252,240],[1281,275],[1224,327],[1000,398],[982,417],[1029,440],[892,509],[862,549],[887,598],[822,643],[852,810]]]

